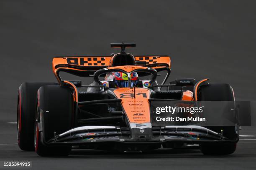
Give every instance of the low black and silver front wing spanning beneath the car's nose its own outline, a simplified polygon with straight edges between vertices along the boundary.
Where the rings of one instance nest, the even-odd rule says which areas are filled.
[[[189,126],[165,126],[139,129],[141,135],[131,138],[128,128],[115,126],[82,126],[68,130],[67,132],[56,135],[47,141],[47,145],[83,145],[88,143],[120,143],[120,144],[164,144],[164,143],[236,143],[239,140],[229,140],[220,133],[216,133],[207,128]],[[146,131],[150,134],[144,135]]]

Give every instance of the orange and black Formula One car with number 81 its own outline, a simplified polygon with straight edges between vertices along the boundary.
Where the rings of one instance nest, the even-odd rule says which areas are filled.
[[[151,122],[155,100],[234,101],[232,87],[210,84],[208,79],[176,79],[165,84],[171,72],[170,57],[125,52],[125,47],[135,46],[112,43],[121,52],[111,56],[54,57],[58,83],[20,85],[20,149],[50,156],[68,155],[72,148],[125,152],[198,144],[203,154],[233,153],[239,140],[237,125],[155,126]],[[162,71],[166,76],[158,84]],[[82,80],[63,80],[60,72],[93,77],[93,82],[83,85]]]

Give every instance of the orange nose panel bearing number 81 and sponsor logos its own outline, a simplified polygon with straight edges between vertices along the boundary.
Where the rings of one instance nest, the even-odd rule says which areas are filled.
[[[134,98],[134,88],[118,88],[114,90],[115,95],[121,99],[121,105],[130,123],[150,122],[149,90],[146,88],[136,88]]]

